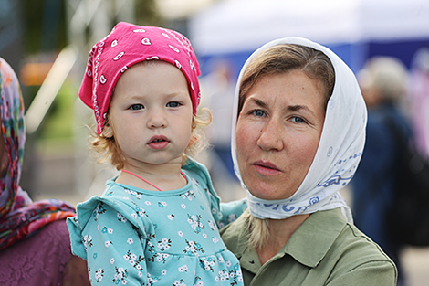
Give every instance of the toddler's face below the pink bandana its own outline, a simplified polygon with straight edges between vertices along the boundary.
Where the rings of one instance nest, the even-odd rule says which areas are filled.
[[[129,166],[182,163],[191,139],[193,105],[186,78],[170,63],[139,63],[127,69],[110,101],[103,134],[115,136]]]

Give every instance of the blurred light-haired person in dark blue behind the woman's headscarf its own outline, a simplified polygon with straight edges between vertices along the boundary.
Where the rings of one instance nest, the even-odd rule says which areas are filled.
[[[392,205],[401,150],[388,122],[392,121],[403,134],[411,136],[410,125],[401,109],[407,77],[403,63],[390,57],[370,58],[358,74],[368,107],[368,125],[361,164],[351,180],[354,223],[395,262],[398,285],[405,285],[400,260],[402,246],[389,235],[385,216]]]

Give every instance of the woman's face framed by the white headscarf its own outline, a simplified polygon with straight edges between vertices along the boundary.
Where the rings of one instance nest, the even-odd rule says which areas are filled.
[[[236,124],[240,174],[249,192],[292,196],[309,172],[325,119],[322,84],[292,70],[267,75],[247,92]]]

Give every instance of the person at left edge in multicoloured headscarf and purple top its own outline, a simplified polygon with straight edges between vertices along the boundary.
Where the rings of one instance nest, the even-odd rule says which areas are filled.
[[[89,285],[86,261],[73,256],[66,202],[32,202],[19,186],[26,129],[18,79],[0,58],[0,285]]]

